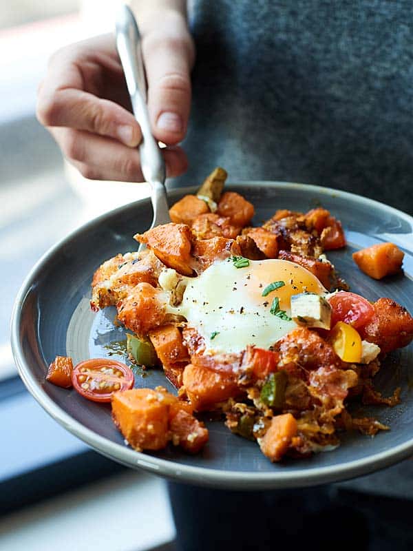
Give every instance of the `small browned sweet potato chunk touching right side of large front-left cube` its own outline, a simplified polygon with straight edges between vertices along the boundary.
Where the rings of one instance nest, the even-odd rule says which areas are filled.
[[[204,424],[182,408],[172,417],[170,429],[173,444],[179,444],[188,453],[198,453],[209,439]]]

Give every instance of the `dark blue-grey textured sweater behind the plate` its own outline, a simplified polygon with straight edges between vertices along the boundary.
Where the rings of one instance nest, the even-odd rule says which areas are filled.
[[[313,183],[413,212],[411,0],[193,0],[199,183]]]

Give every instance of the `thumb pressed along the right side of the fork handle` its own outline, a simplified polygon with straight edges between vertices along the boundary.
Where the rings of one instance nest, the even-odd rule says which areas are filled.
[[[153,135],[158,141],[175,145],[187,132],[191,107],[191,38],[149,34],[142,44],[142,52]]]

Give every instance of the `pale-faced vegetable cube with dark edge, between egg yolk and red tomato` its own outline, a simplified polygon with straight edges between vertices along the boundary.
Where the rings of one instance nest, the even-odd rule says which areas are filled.
[[[299,325],[330,329],[331,311],[330,303],[319,295],[299,293],[291,297],[291,318]]]

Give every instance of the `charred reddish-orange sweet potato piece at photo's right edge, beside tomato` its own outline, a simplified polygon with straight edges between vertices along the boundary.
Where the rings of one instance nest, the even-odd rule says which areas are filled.
[[[383,353],[412,342],[413,318],[403,306],[390,298],[379,298],[373,306],[371,322],[361,329],[363,339],[380,346]]]

